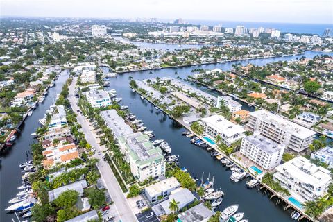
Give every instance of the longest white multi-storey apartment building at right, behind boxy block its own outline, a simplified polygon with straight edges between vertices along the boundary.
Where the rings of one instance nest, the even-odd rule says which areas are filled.
[[[313,130],[299,126],[267,110],[250,112],[247,126],[253,131],[258,130],[264,137],[278,144],[285,144],[287,148],[296,152],[307,149],[316,136]]]

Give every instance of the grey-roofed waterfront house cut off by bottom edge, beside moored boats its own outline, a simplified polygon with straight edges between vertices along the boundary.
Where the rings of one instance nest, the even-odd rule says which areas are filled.
[[[179,222],[207,222],[211,216],[215,213],[208,209],[203,203],[200,203],[194,207],[189,208],[178,214]]]

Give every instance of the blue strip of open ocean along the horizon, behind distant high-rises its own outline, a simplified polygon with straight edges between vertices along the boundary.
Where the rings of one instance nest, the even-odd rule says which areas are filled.
[[[189,24],[200,24],[215,26],[222,24],[223,27],[235,28],[236,26],[245,26],[246,28],[275,28],[282,33],[299,33],[323,35],[325,28],[331,28],[333,34],[333,24],[293,24],[293,23],[272,23],[272,22],[232,22],[232,21],[208,21],[208,20],[186,20]]]

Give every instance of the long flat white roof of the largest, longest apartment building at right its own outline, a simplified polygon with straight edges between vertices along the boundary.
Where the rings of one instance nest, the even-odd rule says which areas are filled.
[[[250,112],[250,116],[256,117],[257,119],[262,119],[266,122],[273,123],[277,125],[277,128],[286,129],[292,135],[295,135],[301,139],[316,135],[316,132],[314,132],[314,130],[309,130],[304,126],[293,123],[287,119],[284,119],[283,117],[280,117],[277,114],[268,112],[267,110],[257,110],[255,112]]]

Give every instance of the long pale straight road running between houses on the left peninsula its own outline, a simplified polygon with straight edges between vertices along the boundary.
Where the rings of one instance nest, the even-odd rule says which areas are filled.
[[[71,107],[73,108],[74,112],[76,110],[79,110],[78,105],[76,105],[76,98],[74,96],[74,89],[77,82],[77,78],[74,77],[71,85],[69,86],[69,103],[71,103]],[[81,130],[83,130],[83,133],[85,134],[85,139],[87,139],[87,142],[92,145],[94,148],[96,148],[96,151],[102,151],[101,147],[99,146],[98,142],[96,141],[96,135],[92,133],[91,128],[89,127],[89,123],[83,116],[83,114],[78,114],[77,120],[80,126],[82,127]],[[99,152],[96,152],[99,153]],[[105,183],[105,187],[108,189],[108,192],[114,202],[115,210],[117,211],[118,216],[116,216],[116,219],[114,221],[137,221],[137,218],[133,211],[130,208],[130,205],[128,205],[128,201],[126,197],[123,195],[123,191],[121,190],[121,187],[119,186],[116,177],[114,176],[114,173],[112,172],[112,169],[110,168],[110,165],[108,162],[105,162],[102,160],[103,155],[95,154],[94,157],[99,159],[99,163],[97,164],[97,167],[99,169],[99,172],[101,173],[101,178],[103,182]]]

